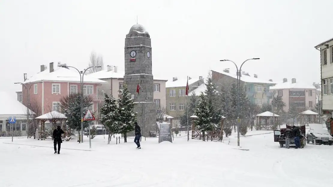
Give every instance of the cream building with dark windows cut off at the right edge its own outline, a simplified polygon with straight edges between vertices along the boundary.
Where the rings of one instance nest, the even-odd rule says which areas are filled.
[[[333,112],[333,38],[315,46],[320,51],[322,114]]]

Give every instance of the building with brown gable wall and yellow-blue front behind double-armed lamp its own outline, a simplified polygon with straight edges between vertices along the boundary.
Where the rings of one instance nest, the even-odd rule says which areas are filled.
[[[253,104],[263,105],[268,104],[269,99],[272,97],[272,92],[269,90],[270,86],[275,85],[271,79],[261,80],[258,75],[251,76],[249,73],[242,71],[240,74],[240,82],[245,86],[247,97]],[[222,72],[211,71],[213,83],[218,86],[224,86],[226,90],[231,89],[232,84],[237,83],[237,72],[235,74],[230,73],[228,69],[224,69]]]

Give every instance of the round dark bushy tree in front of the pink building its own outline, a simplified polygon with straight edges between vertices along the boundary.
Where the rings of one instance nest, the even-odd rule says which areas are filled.
[[[68,126],[79,132],[81,131],[81,93],[69,94],[60,98],[61,113],[67,117],[66,123]],[[86,114],[88,108],[93,105],[93,98],[83,95],[83,116]],[[88,127],[89,122],[83,122],[83,128]],[[83,133],[83,132],[82,132]]]

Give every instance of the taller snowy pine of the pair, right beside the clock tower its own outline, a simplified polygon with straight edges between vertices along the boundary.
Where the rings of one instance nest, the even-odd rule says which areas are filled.
[[[137,114],[133,111],[135,104],[125,83],[121,92],[122,96],[118,99],[119,121],[121,123],[119,130],[121,134],[124,134],[124,142],[127,142],[127,133],[134,131],[134,122],[137,121]]]

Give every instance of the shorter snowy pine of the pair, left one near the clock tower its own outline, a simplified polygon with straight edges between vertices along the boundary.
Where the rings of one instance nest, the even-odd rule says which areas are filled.
[[[112,135],[120,133],[119,131],[119,108],[116,99],[110,95],[105,94],[105,104],[101,108],[101,123],[109,131],[108,144]]]

